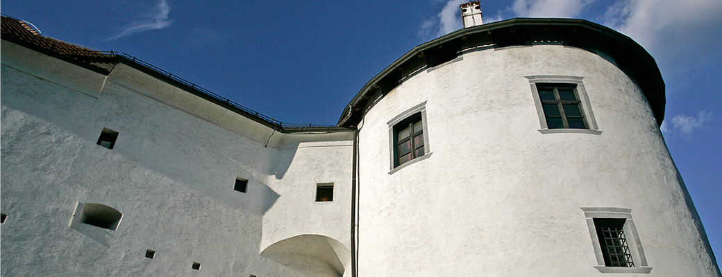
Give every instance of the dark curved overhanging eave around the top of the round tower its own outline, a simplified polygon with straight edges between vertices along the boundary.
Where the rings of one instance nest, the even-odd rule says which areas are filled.
[[[367,101],[376,91],[375,88],[395,87],[404,78],[401,70],[417,66],[419,59],[424,58],[425,63],[431,67],[435,65],[433,62],[430,64],[434,55],[456,57],[461,50],[470,47],[534,45],[541,41],[609,55],[617,67],[638,84],[657,123],[662,124],[665,105],[664,80],[654,58],[637,42],[614,29],[584,19],[515,18],[459,29],[414,47],[363,86],[344,109],[337,126],[351,127],[358,124]],[[382,91],[382,94],[386,93],[388,91]]]

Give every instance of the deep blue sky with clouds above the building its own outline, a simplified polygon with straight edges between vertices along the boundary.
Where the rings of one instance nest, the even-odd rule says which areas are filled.
[[[393,60],[460,29],[461,2],[3,0],[0,9],[43,35],[128,53],[282,122],[336,124]],[[484,22],[583,18],[651,53],[666,82],[664,137],[722,258],[722,1],[481,4]]]

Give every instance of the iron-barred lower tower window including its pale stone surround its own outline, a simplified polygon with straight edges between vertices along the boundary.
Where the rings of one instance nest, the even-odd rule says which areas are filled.
[[[593,250],[601,273],[649,273],[632,210],[583,207]]]

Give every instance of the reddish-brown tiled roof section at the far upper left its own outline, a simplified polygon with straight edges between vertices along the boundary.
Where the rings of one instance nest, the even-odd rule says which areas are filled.
[[[97,66],[97,63],[117,63],[113,55],[55,40],[51,37],[44,37],[18,19],[2,17],[1,20],[3,40],[80,65],[104,75],[108,75],[110,71],[107,68]]]

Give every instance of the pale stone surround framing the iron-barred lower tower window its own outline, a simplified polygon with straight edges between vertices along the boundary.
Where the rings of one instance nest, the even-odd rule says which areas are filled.
[[[639,235],[637,234],[637,227],[635,227],[634,219],[632,219],[632,209],[614,207],[580,207],[580,209],[584,211],[584,217],[586,217],[589,234],[591,235],[591,241],[596,255],[597,265],[594,265],[594,268],[596,268],[600,273],[648,274],[652,271],[652,268],[647,265],[647,258],[644,255],[642,243],[640,242]],[[632,259],[634,260],[635,267],[623,268],[604,265],[604,256],[601,253],[599,237],[596,235],[596,226],[594,226],[595,218],[625,219],[624,231],[627,235],[627,244],[629,245],[630,253],[632,253]]]

